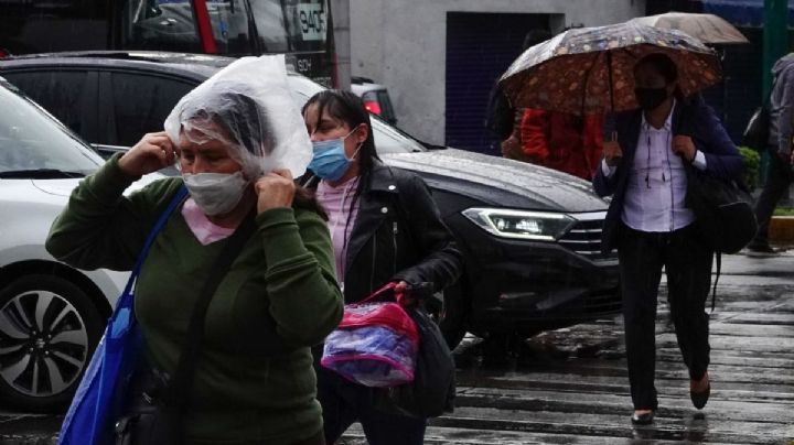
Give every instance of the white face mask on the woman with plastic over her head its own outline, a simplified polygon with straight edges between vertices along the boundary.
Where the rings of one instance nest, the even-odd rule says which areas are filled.
[[[243,198],[248,181],[237,173],[185,173],[185,187],[204,215],[215,216],[232,211]]]

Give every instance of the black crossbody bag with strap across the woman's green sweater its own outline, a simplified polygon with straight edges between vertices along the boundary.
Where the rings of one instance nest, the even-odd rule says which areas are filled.
[[[142,370],[130,384],[130,404],[116,422],[116,445],[179,445],[184,442],[183,414],[204,338],[204,322],[213,294],[256,227],[248,215],[215,259],[195,302],[179,362],[171,377],[158,369]]]

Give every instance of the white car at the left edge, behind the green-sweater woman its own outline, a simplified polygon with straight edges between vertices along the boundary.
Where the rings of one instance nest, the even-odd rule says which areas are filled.
[[[104,160],[0,77],[0,400],[66,404],[127,273],[84,271],[44,249],[81,177]],[[3,406],[6,408],[6,406]]]

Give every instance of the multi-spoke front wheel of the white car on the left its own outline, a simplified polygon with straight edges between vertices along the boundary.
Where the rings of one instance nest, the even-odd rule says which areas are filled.
[[[72,400],[103,330],[92,300],[55,275],[25,275],[0,291],[0,394],[30,411]]]

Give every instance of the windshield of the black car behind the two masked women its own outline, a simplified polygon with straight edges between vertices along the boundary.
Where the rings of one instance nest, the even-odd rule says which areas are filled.
[[[315,82],[303,76],[290,76],[293,98],[299,107],[309,100],[310,97],[325,89]],[[425,145],[407,133],[386,123],[379,116],[369,113],[375,134],[375,146],[378,154],[411,153],[427,151]]]

